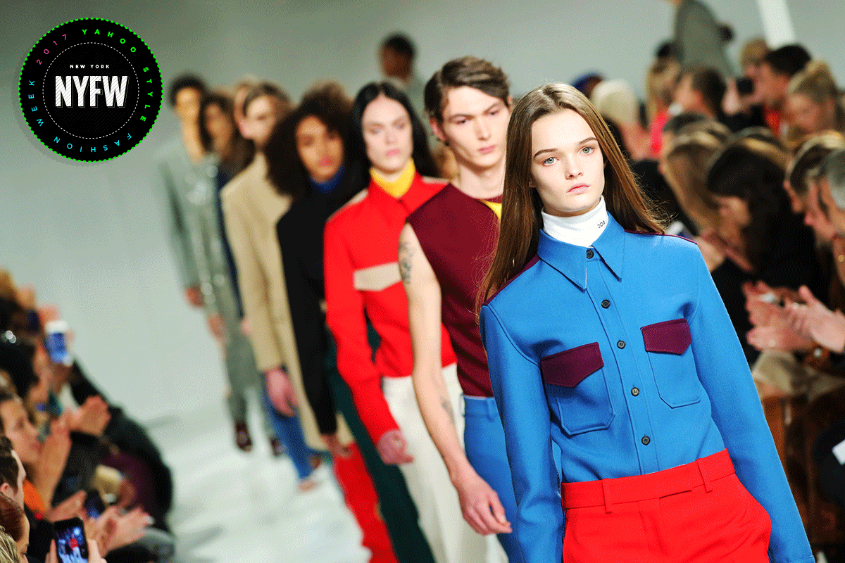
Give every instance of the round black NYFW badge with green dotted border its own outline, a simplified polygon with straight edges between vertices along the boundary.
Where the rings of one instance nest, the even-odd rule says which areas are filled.
[[[72,160],[126,153],[161,110],[161,71],[132,30],[74,19],[41,37],[20,72],[20,107],[32,133]]]

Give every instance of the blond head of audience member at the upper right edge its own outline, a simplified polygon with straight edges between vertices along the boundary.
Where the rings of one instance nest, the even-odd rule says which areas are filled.
[[[845,133],[845,109],[826,62],[808,62],[789,81],[785,117],[789,124],[789,143],[826,129]]]

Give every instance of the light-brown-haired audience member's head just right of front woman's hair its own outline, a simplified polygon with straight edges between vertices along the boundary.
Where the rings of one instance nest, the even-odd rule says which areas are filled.
[[[717,228],[719,208],[711,192],[707,190],[707,165],[713,154],[722,149],[722,140],[704,131],[683,133],[669,143],[665,156],[666,181],[672,187],[675,198],[690,219],[684,225],[691,235],[699,235]],[[701,242],[701,252],[710,263],[706,249]]]

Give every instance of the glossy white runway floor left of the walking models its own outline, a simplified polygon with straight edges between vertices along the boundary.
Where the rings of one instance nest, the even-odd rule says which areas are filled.
[[[361,532],[327,464],[315,472],[319,485],[299,492],[290,460],[270,455],[255,409],[249,422],[250,453],[235,447],[222,402],[148,423],[174,474],[169,518],[177,534],[174,561],[367,561]]]

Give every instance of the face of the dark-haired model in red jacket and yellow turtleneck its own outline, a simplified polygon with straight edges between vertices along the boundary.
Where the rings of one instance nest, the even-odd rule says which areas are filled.
[[[367,158],[384,176],[405,169],[414,150],[411,117],[398,101],[385,95],[364,108],[361,119]]]

